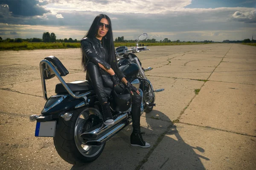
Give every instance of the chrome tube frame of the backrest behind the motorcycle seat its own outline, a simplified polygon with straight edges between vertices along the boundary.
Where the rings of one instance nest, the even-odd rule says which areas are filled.
[[[49,56],[49,57],[53,57],[53,56]],[[43,59],[40,62],[39,66],[40,66],[40,73],[41,73],[42,89],[43,89],[43,94],[44,94],[44,99],[45,100],[48,100],[47,90],[46,90],[46,83],[45,83],[46,78],[45,77],[47,77],[47,79],[51,79],[52,77],[56,76],[58,78],[58,80],[61,82],[61,84],[63,85],[63,87],[67,90],[67,92],[73,98],[79,99],[79,98],[85,97],[86,95],[90,94],[90,92],[87,92],[87,93],[84,93],[84,94],[75,95],[73,93],[73,91],[71,91],[71,89],[68,87],[68,85],[66,84],[64,79],[62,79],[60,71],[58,70],[58,67],[55,66],[52,62],[48,61],[47,59]],[[47,73],[47,75],[45,75],[45,73]],[[67,74],[68,74],[68,72],[67,72]]]

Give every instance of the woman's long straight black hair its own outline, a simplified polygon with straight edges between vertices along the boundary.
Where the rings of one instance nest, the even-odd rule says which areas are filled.
[[[103,47],[107,50],[107,55],[108,55],[108,59],[109,59],[108,63],[111,65],[111,63],[116,62],[116,54],[115,54],[115,47],[114,47],[114,42],[113,42],[111,20],[107,15],[99,14],[97,17],[95,17],[92,25],[90,26],[89,31],[87,32],[87,34],[85,34],[85,36],[83,38],[96,37],[96,35],[98,34],[98,30],[99,30],[99,23],[102,18],[106,18],[108,20],[108,24],[109,24],[107,34],[104,37],[102,37],[102,44],[103,44]],[[87,64],[87,58],[82,53],[81,65],[84,68],[84,71],[86,71],[86,64]]]

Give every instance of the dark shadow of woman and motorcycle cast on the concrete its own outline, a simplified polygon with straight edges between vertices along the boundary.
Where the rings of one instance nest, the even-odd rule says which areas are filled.
[[[153,110],[151,113],[146,113],[150,116],[167,117],[160,111]],[[151,153],[147,162],[143,164],[141,169],[143,170],[169,170],[169,169],[192,169],[192,170],[204,170],[204,165],[199,158],[209,160],[204,156],[198,155],[193,149],[196,149],[204,153],[204,149],[201,147],[192,147],[184,142],[179,135],[175,125],[168,121],[162,121],[157,119],[151,119],[149,116],[142,119],[146,119],[147,128],[141,127],[141,131],[145,132],[143,138],[146,142],[151,143],[149,149],[132,147],[130,145],[130,135],[132,132],[131,125],[124,128],[111,140],[109,140],[105,146],[101,156],[96,161],[93,161],[84,165],[73,165],[71,170],[133,170],[135,169],[147,153],[152,149],[153,145],[157,143],[158,137],[169,129],[165,134],[163,140],[159,142],[154,151]],[[160,130],[162,128],[162,130]],[[164,128],[164,130],[163,130]]]

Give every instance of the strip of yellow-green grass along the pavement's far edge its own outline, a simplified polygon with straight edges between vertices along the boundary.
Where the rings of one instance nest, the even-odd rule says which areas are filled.
[[[203,42],[141,42],[139,45],[158,46],[158,45],[192,45],[205,44]],[[115,47],[135,46],[135,42],[117,42]],[[62,49],[62,48],[80,48],[80,42],[0,42],[0,51],[3,50],[37,50],[37,49]]]

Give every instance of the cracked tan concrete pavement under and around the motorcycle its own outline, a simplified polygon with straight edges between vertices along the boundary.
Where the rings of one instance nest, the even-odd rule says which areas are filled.
[[[170,170],[256,167],[256,47],[240,44],[152,46],[137,56],[156,93],[141,117],[151,148],[131,147],[129,125],[84,166],[63,161],[52,138],[34,137],[29,115],[44,107],[39,62],[54,55],[84,79],[80,49],[0,51],[0,169]],[[58,80],[47,81],[54,95]],[[199,91],[195,94],[195,90]]]

